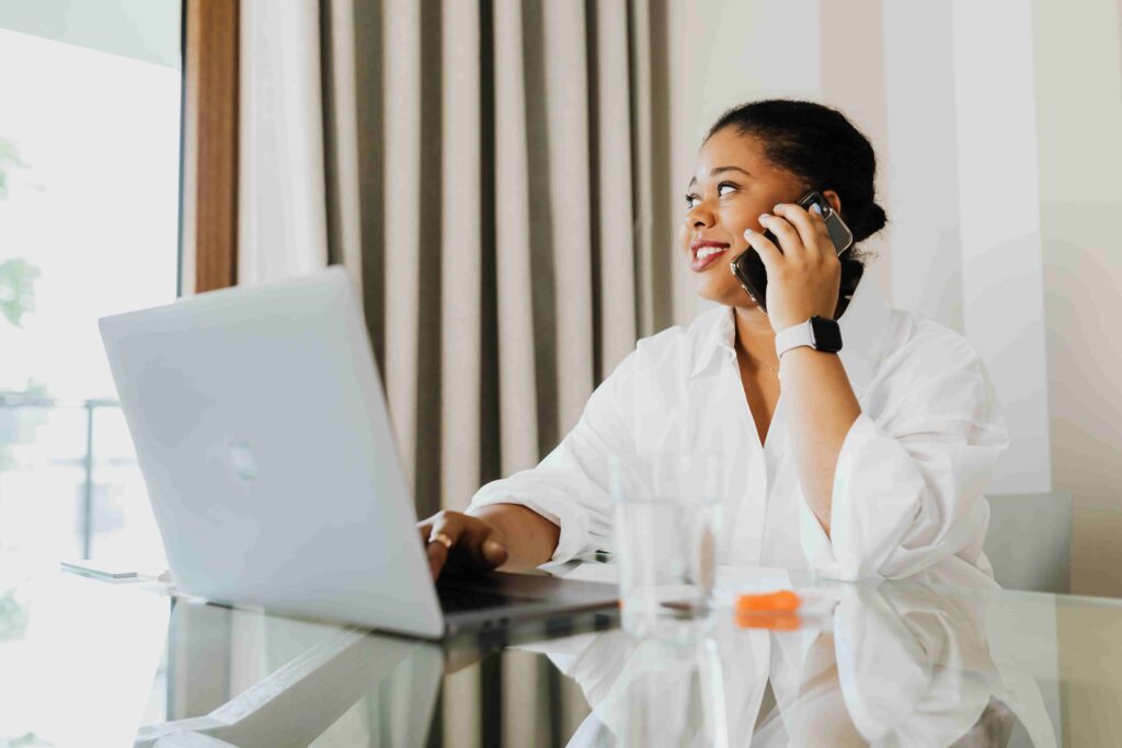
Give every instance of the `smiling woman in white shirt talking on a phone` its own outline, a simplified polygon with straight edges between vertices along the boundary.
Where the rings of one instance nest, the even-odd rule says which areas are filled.
[[[794,204],[819,191],[859,242],[885,223],[874,173],[868,140],[836,110],[769,100],[723,114],[680,231],[698,294],[720,306],[641,340],[536,468],[421,523],[433,575],[611,548],[609,455],[688,451],[725,456],[723,563],[852,580],[949,560],[992,576],[982,490],[1006,435],[981,359],[868,280],[842,296],[821,215]],[[766,268],[766,313],[729,271],[743,251]],[[839,352],[776,350],[776,333],[815,316],[837,325]]]

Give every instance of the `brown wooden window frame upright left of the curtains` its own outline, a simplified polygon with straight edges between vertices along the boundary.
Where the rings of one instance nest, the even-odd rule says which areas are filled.
[[[183,3],[183,295],[238,281],[239,4]]]

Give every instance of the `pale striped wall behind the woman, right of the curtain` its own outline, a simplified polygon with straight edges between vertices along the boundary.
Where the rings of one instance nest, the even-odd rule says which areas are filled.
[[[873,141],[890,219],[866,242],[870,277],[894,306],[966,334],[994,380],[1012,446],[993,491],[1072,491],[1075,589],[1122,594],[1119,0],[670,6],[668,207],[681,213],[727,107],[842,109]],[[674,267],[682,322],[700,305]]]

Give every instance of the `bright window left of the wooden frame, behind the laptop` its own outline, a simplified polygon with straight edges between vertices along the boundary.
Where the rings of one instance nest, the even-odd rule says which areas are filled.
[[[180,15],[0,8],[0,609],[61,558],[164,561],[98,318],[176,295]]]

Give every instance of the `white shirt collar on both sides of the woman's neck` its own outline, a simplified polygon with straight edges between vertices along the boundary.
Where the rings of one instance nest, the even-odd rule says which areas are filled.
[[[872,381],[880,360],[881,343],[889,326],[892,310],[876,284],[870,279],[857,284],[849,306],[838,320],[842,329],[842,364],[849,384],[859,394]],[[690,377],[705,371],[718,354],[736,355],[736,325],[733,308],[723,306],[702,315],[695,324],[698,335],[693,347]]]

